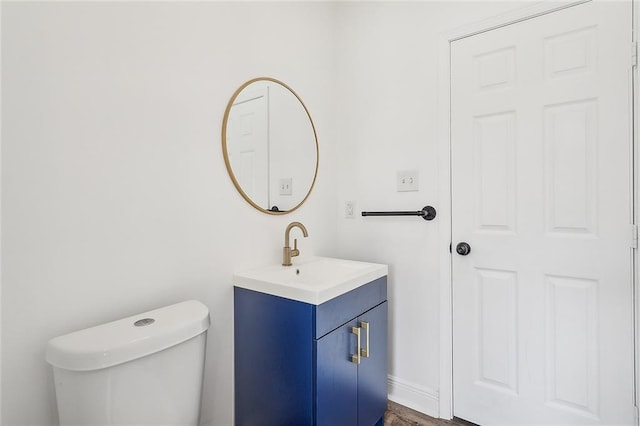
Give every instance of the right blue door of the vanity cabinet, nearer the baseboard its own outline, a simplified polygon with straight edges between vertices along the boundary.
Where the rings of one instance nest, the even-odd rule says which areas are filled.
[[[369,340],[362,330],[367,357],[358,366],[358,426],[373,426],[387,409],[387,302],[358,318],[358,326],[369,327]],[[356,424],[356,423],[353,423]]]

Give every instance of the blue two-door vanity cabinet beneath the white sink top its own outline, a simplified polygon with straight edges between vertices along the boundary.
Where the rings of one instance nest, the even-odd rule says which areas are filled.
[[[386,298],[386,276],[320,305],[235,287],[235,424],[382,425]]]

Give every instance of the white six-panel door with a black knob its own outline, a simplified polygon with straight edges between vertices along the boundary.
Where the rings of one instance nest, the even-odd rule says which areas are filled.
[[[634,424],[631,17],[590,2],[451,44],[456,417]]]

